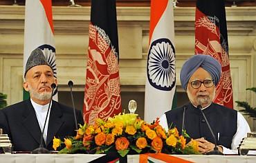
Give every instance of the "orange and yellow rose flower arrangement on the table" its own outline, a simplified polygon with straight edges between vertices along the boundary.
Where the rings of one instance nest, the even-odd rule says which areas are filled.
[[[53,139],[53,149],[61,144],[59,153],[108,153],[117,152],[122,157],[138,153],[199,154],[195,140],[186,144],[188,134],[179,135],[176,128],[165,131],[158,119],[147,124],[134,113],[123,113],[107,121],[98,119],[94,125],[80,125],[75,137]]]

